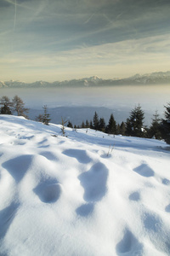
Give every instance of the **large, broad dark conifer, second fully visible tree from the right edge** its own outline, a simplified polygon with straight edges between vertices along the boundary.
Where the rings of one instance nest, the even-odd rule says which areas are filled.
[[[140,105],[131,111],[129,122],[129,135],[144,137],[144,111],[141,109]]]

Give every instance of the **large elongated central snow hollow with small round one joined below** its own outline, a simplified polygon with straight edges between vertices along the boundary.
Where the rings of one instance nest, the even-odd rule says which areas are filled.
[[[83,172],[78,178],[84,189],[86,204],[77,208],[77,214],[88,216],[94,210],[94,203],[100,201],[107,192],[106,182],[108,169],[102,163],[96,163],[88,172]]]

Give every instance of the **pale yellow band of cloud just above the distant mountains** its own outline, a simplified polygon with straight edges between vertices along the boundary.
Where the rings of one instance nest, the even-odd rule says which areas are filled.
[[[39,70],[71,68],[76,73],[80,68],[111,67],[117,65],[128,66],[157,62],[169,64],[167,51],[170,45],[170,34],[142,38],[138,40],[126,40],[115,44],[103,44],[99,46],[82,47],[51,53],[50,51],[39,54],[16,52],[8,55],[0,61],[3,67],[18,68],[20,70],[36,68]]]

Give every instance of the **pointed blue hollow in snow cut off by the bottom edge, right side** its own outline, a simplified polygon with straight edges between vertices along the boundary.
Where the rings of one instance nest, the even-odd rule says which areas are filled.
[[[122,240],[116,245],[117,255],[143,255],[143,246],[133,233],[126,229],[123,231]]]

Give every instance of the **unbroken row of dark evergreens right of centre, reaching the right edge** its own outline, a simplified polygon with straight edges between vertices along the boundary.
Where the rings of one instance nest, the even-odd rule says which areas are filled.
[[[90,128],[96,131],[103,131],[108,134],[132,136],[132,137],[148,137],[158,140],[164,139],[170,144],[170,102],[165,107],[165,119],[160,119],[159,114],[153,114],[150,127],[144,125],[144,111],[141,106],[133,108],[126,122],[117,124],[113,113],[109,119],[108,125],[105,124],[104,118],[99,118],[98,113],[94,113],[94,118],[86,122],[82,121],[82,125],[74,125],[74,128]],[[68,127],[73,125],[69,121]]]

